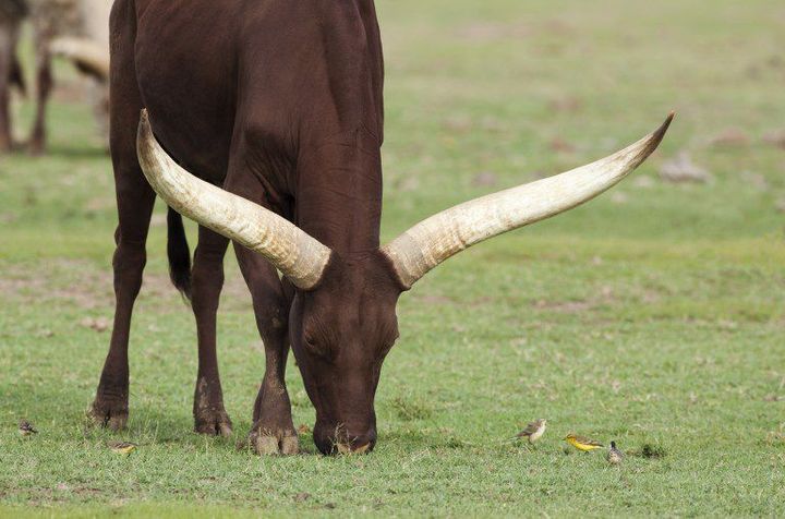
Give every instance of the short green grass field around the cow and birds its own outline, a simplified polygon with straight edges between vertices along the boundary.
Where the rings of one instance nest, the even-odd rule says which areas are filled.
[[[51,154],[0,157],[0,516],[785,515],[785,4],[377,8],[387,239],[678,118],[613,192],[450,260],[402,298],[372,455],[325,458],[303,435],[303,455],[258,458],[234,447],[264,355],[232,256],[219,354],[235,438],[191,432],[196,338],[168,282],[164,207],[129,429],[85,427],[113,311],[114,195],[61,67]],[[24,122],[31,110],[16,106]],[[680,153],[711,181],[661,180]],[[291,362],[288,384],[295,425],[312,425]],[[541,417],[536,448],[509,440]],[[21,439],[23,418],[40,434]],[[566,452],[570,431],[616,439],[625,463]],[[141,447],[118,457],[112,438]]]

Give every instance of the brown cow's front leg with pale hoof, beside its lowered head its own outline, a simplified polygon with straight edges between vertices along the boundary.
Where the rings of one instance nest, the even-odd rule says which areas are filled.
[[[300,449],[291,417],[285,374],[289,354],[287,297],[278,274],[262,256],[235,245],[234,251],[251,290],[256,326],[265,347],[265,374],[253,412],[249,443],[259,455],[293,455]]]

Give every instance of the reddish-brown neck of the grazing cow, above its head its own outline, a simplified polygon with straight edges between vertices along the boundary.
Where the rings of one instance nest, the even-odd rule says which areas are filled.
[[[297,221],[339,254],[363,254],[378,249],[382,218],[378,24],[372,0],[316,5],[323,48],[303,72],[316,89],[301,104],[297,132]]]

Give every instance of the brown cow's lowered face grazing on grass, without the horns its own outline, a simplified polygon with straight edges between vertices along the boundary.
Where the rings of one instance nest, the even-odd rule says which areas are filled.
[[[316,408],[322,452],[370,450],[382,362],[398,338],[402,287],[381,252],[333,254],[318,285],[298,291],[289,315],[292,350]]]

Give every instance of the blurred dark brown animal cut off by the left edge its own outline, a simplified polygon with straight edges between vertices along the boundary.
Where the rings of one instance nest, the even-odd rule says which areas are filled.
[[[27,15],[24,0],[0,0],[0,152],[11,148],[11,87],[25,92],[24,77],[16,59],[20,26]]]

